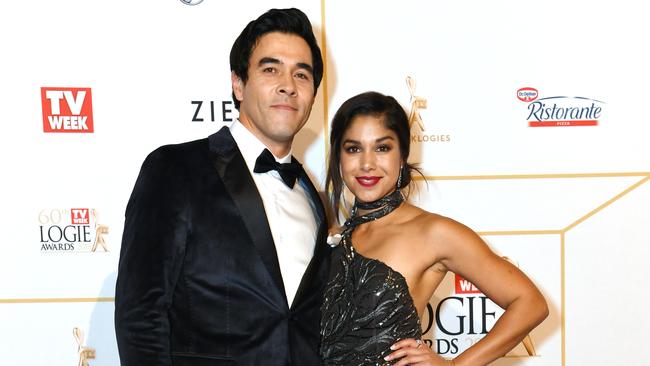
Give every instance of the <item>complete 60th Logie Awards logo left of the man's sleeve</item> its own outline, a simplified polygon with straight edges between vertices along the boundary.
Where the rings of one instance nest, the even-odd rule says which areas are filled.
[[[38,214],[41,252],[108,252],[105,236],[94,208],[45,209]]]

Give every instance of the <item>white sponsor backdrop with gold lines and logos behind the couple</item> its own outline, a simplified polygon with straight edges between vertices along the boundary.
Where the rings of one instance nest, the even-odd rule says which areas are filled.
[[[0,5],[0,364],[118,365],[124,209],[156,147],[237,118],[228,53],[299,7],[326,76],[294,152],[376,90],[410,113],[411,199],[540,287],[549,317],[496,365],[640,365],[650,297],[648,12],[632,1],[11,1]],[[453,357],[502,310],[449,274],[426,342]]]

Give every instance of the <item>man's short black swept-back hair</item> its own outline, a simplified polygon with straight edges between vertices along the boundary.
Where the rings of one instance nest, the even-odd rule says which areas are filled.
[[[302,11],[291,9],[271,9],[259,18],[248,23],[246,28],[235,40],[230,50],[230,71],[244,82],[248,81],[248,66],[253,48],[263,35],[271,32],[295,34],[307,42],[311,50],[314,74],[314,95],[323,78],[323,56],[320,53],[316,37],[311,28],[309,18]],[[232,93],[235,108],[239,110],[239,100]]]

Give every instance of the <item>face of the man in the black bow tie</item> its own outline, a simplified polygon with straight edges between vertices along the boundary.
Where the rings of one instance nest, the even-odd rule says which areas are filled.
[[[312,70],[311,50],[304,39],[271,32],[253,48],[246,83],[232,74],[241,123],[276,156],[289,152],[293,137],[309,118],[314,104]]]

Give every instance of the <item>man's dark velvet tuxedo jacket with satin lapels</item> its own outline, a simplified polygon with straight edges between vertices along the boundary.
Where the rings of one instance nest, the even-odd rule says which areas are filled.
[[[319,225],[289,307],[262,199],[229,129],[147,157],[126,209],[115,290],[123,366],[321,363],[327,223],[301,179]]]

